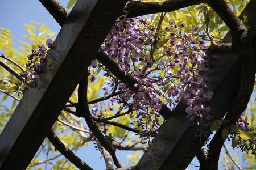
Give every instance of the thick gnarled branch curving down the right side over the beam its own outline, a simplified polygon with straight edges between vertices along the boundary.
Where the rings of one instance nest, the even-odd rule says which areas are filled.
[[[255,40],[253,39],[254,34],[249,35],[247,33],[246,26],[241,22],[236,14],[234,14],[228,3],[224,0],[207,2],[230,28],[233,49],[236,49],[239,53],[239,57],[242,58],[239,83],[240,87],[232,105],[230,105],[228,113],[225,116],[225,120],[229,120],[229,124],[225,126],[221,125],[208,148],[208,168],[217,169],[221,148],[225,142],[225,139],[222,138],[222,130],[225,129],[226,126],[234,124],[238,120],[240,114],[245,111],[247,103],[250,100],[251,92],[253,91],[255,80],[255,42],[253,41]]]

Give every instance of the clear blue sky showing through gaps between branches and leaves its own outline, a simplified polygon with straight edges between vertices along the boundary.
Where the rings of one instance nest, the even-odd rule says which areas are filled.
[[[60,0],[63,6],[66,6],[68,0]],[[32,0],[8,0],[0,2],[0,27],[10,29],[14,35],[14,46],[18,48],[20,46],[19,41],[24,39],[22,35],[26,35],[26,28],[24,24],[30,23],[30,21],[36,21],[44,23],[52,31],[59,33],[60,26],[56,23],[55,19],[46,11],[39,1]],[[11,100],[6,104],[10,105]],[[130,151],[117,152],[117,155],[125,165],[128,165],[126,160],[127,154],[131,154]],[[100,159],[100,152],[94,149],[94,145],[90,143],[89,147],[83,148],[78,152],[78,155],[86,163],[92,166],[94,169],[105,169],[105,163],[103,159]],[[196,159],[192,161],[192,164],[199,165]],[[48,167],[49,168],[49,167]],[[189,165],[188,169],[199,169],[193,165]]]

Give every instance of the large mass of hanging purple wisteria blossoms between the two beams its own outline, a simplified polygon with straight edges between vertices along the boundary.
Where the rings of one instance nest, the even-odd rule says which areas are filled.
[[[113,109],[114,102],[128,107],[133,105],[139,125],[146,130],[149,126],[156,129],[160,125],[158,112],[162,105],[173,109],[184,97],[188,117],[199,117],[204,125],[208,125],[210,108],[205,103],[212,98],[213,92],[207,91],[207,78],[201,76],[208,71],[208,56],[205,54],[208,47],[200,39],[197,27],[191,28],[190,33],[183,32],[184,27],[184,24],[171,22],[164,32],[162,29],[160,32],[148,24],[146,18],[126,18],[114,25],[101,49],[134,78],[137,82],[134,88],[138,91],[131,90],[106,70],[104,76],[110,80],[103,87],[104,94],[115,86],[125,91],[110,99],[109,109]],[[96,70],[102,65],[93,61],[92,67]],[[93,82],[95,73],[92,72]],[[94,105],[94,115],[97,115],[98,107],[100,103]]]

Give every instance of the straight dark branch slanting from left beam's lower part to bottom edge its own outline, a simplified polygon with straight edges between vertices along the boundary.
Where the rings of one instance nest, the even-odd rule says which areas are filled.
[[[63,155],[65,158],[67,158],[72,164],[74,164],[79,169],[92,169],[87,165],[85,162],[83,162],[79,157],[77,157],[71,150],[69,150],[68,147],[64,145],[60,141],[59,138],[57,138],[56,134],[51,130],[49,134],[47,135],[47,138],[52,143],[52,145]]]

